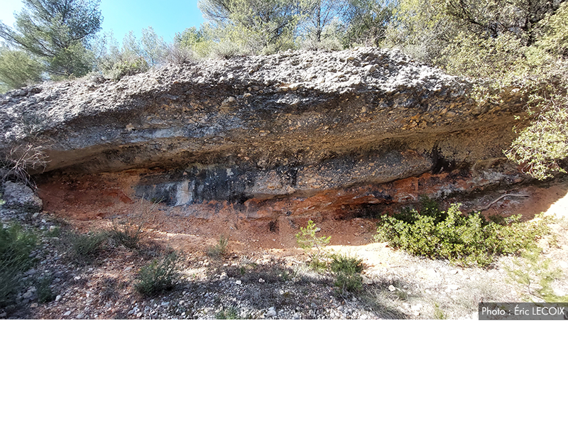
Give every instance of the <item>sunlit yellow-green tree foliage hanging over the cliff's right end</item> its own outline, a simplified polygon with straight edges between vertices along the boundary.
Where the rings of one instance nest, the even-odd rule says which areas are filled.
[[[530,95],[528,126],[506,155],[537,179],[568,158],[568,2],[400,0],[386,47],[479,80],[476,100]]]

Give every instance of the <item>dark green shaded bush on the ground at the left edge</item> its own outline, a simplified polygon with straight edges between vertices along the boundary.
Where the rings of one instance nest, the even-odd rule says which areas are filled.
[[[0,307],[11,304],[21,288],[20,274],[33,265],[31,251],[38,239],[20,224],[0,228]]]

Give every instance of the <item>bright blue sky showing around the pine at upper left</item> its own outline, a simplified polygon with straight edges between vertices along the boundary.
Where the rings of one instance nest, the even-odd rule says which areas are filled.
[[[21,11],[20,0],[0,1],[0,20],[13,24],[13,12]],[[172,41],[175,33],[203,22],[197,0],[101,0],[104,21],[102,31],[112,30],[117,40],[129,31],[139,37],[142,28],[151,26],[164,40]]]

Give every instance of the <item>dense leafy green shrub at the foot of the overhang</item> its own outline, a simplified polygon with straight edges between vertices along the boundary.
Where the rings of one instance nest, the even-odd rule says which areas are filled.
[[[444,212],[427,200],[422,212],[405,209],[393,216],[384,214],[376,239],[415,256],[483,267],[499,254],[515,254],[534,246],[536,239],[549,232],[547,218],[523,223],[517,216],[507,218],[507,224],[498,224],[488,222],[479,212],[462,214],[459,207],[452,204]]]

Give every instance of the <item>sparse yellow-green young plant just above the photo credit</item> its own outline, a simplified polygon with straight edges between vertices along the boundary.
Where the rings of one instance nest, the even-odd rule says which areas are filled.
[[[568,302],[568,297],[555,295],[550,284],[562,276],[559,268],[550,268],[550,259],[542,258],[539,247],[530,247],[521,253],[520,258],[513,259],[513,266],[506,266],[508,278],[520,285],[525,285],[532,294],[531,285],[537,286],[537,292],[545,302]]]

